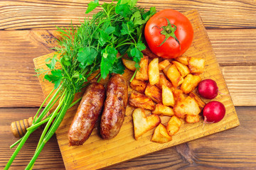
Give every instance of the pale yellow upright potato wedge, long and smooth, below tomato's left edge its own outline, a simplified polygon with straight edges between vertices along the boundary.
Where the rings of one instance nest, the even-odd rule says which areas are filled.
[[[155,85],[159,79],[159,58],[154,58],[149,62],[149,84]]]

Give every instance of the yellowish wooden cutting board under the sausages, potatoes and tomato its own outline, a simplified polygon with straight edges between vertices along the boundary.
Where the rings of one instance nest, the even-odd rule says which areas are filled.
[[[214,79],[217,82],[221,94],[219,94],[215,100],[220,101],[225,105],[225,118],[219,123],[207,125],[203,125],[203,118],[201,118],[199,123],[183,123],[181,129],[173,136],[171,142],[158,144],[150,141],[154,130],[146,132],[146,134],[139,140],[134,140],[132,123],[132,111],[134,108],[127,106],[124,123],[117,137],[114,137],[112,140],[102,140],[99,135],[98,121],[97,125],[95,125],[95,129],[92,131],[92,135],[84,145],[79,147],[68,147],[68,129],[75,115],[76,108],[78,107],[74,106],[66,113],[63,122],[56,131],[58,145],[66,169],[100,169],[135,157],[140,157],[144,154],[156,152],[160,149],[172,147],[183,142],[196,140],[199,137],[211,135],[215,132],[228,130],[239,125],[233,101],[230,98],[225,79],[220,71],[220,67],[215,58],[213,48],[210,44],[206,29],[203,26],[203,22],[201,21],[201,17],[198,11],[188,11],[184,14],[191,21],[194,29],[193,43],[184,55],[203,57],[206,59],[206,69],[205,72],[201,74],[201,77],[202,79]],[[52,55],[53,54],[44,55],[34,59],[36,69],[41,67],[46,68],[45,60]],[[129,80],[132,77],[132,72],[126,70],[124,77]],[[39,77],[39,80],[43,89],[43,94],[46,96],[53,88],[53,85],[48,81],[43,81],[43,77]],[[107,79],[101,82],[102,84],[106,84]],[[132,90],[129,88],[129,94],[131,91]],[[81,95],[82,93],[78,94],[77,98]],[[205,101],[208,102],[210,100]],[[161,120],[162,123],[166,123],[169,118],[161,117]]]

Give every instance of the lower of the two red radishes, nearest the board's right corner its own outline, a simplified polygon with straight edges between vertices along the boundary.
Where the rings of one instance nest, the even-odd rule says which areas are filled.
[[[225,106],[219,101],[210,101],[203,108],[205,123],[218,123],[225,116]]]

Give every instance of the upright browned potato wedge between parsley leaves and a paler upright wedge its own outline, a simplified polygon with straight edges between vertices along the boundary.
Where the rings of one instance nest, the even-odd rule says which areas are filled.
[[[149,57],[144,55],[144,57],[139,62],[139,70],[135,75],[135,79],[147,81],[149,79],[148,75],[148,64],[149,64]]]

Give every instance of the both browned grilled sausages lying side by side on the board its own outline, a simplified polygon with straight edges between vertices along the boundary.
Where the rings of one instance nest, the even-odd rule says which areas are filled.
[[[102,84],[92,83],[87,86],[68,131],[69,145],[82,145],[90,137],[103,106],[100,135],[106,140],[115,137],[124,122],[127,102],[127,81],[121,74],[113,74],[110,78],[106,100]]]

